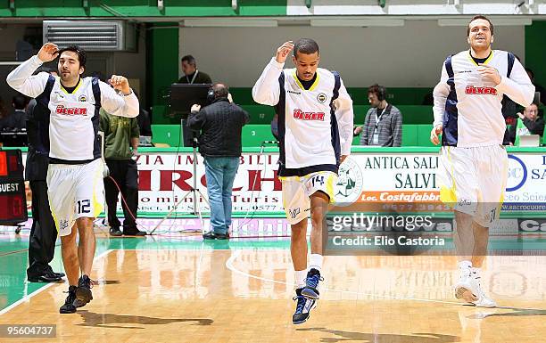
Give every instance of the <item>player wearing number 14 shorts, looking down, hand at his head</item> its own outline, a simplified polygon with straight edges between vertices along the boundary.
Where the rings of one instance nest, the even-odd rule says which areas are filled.
[[[294,50],[294,69],[283,69]],[[339,74],[318,68],[312,39],[286,42],[277,49],[252,88],[255,102],[278,113],[279,167],[283,203],[292,226],[290,252],[295,269],[293,323],[305,322],[318,300],[322,234],[340,163],[351,152],[352,100]],[[307,270],[307,218],[310,212],[310,265]]]

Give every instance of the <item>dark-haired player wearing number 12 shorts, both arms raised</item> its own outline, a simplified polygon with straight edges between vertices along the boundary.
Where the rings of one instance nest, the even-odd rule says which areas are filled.
[[[59,77],[41,72],[42,63],[59,57]],[[89,274],[95,257],[93,221],[103,210],[103,162],[97,136],[99,109],[113,115],[136,117],[138,100],[127,78],[112,75],[110,84],[98,78],[81,78],[86,53],[77,46],[59,50],[46,43],[36,56],[24,61],[7,77],[16,91],[35,97],[34,115],[48,123],[49,167],[47,187],[55,226],[62,241],[62,263],[69,281],[69,295],[62,314],[76,312],[92,298]],[[77,229],[76,229],[77,228]],[[76,247],[79,233],[79,247]],[[81,271],[81,277],[79,273]]]

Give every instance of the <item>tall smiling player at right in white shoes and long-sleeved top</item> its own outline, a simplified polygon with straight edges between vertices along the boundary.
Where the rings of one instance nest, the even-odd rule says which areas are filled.
[[[527,106],[534,86],[514,55],[492,50],[493,25],[478,15],[467,26],[470,49],[449,56],[434,87],[434,128],[430,139],[440,152],[440,198],[455,212],[454,241],[459,257],[456,298],[494,307],[480,285],[489,227],[499,217],[508,175],[502,146],[502,95]]]

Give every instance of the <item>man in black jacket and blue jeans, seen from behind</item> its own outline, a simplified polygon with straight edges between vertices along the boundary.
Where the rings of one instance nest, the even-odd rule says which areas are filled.
[[[227,86],[211,86],[211,105],[192,106],[187,127],[201,130],[199,152],[203,155],[207,192],[211,202],[211,232],[205,240],[226,240],[231,225],[231,190],[241,157],[241,131],[249,120],[248,113],[229,102]]]

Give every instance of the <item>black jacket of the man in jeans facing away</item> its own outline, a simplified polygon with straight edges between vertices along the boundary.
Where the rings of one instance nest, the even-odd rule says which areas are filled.
[[[248,113],[220,98],[192,113],[187,119],[187,127],[201,130],[199,152],[204,157],[241,156],[241,130],[248,123]]]

